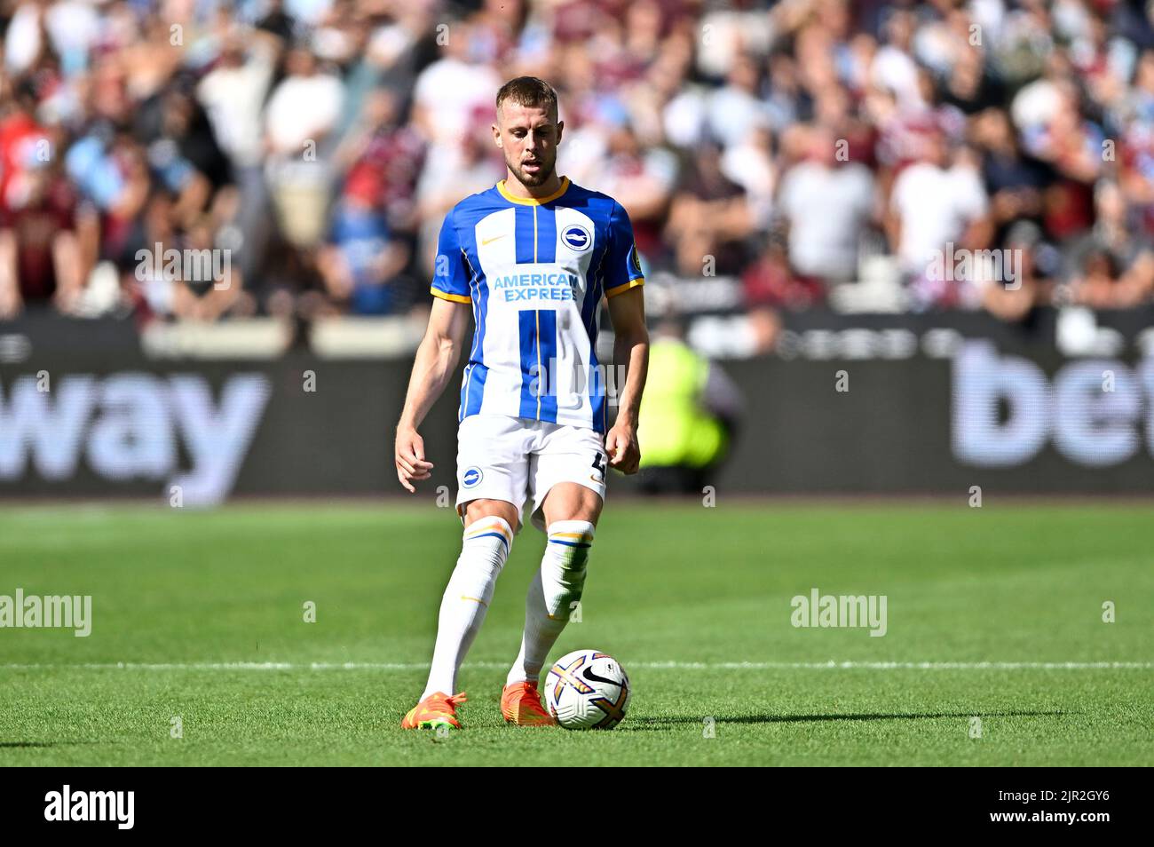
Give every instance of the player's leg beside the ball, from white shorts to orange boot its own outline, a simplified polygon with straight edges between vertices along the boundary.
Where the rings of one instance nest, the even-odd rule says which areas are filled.
[[[575,430],[565,427],[565,430]],[[520,652],[505,680],[502,713],[514,724],[552,722],[537,691],[541,668],[580,602],[605,493],[605,454],[592,430],[557,433],[530,464],[533,523],[548,535],[525,597]],[[539,497],[539,500],[537,500]]]

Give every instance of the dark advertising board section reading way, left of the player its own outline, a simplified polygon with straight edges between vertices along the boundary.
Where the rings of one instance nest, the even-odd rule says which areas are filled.
[[[237,495],[383,493],[396,482],[391,433],[405,370],[309,355],[3,365],[0,497],[212,505]],[[454,417],[436,415],[429,427],[449,443],[455,410],[442,405]]]

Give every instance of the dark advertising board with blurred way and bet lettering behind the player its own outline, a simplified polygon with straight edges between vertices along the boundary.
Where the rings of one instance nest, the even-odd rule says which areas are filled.
[[[887,330],[891,331],[891,330]],[[726,493],[1154,490],[1154,359],[1067,358],[964,338],[898,359],[720,363],[744,398]],[[0,365],[0,497],[400,493],[392,430],[410,361],[145,360],[121,351]],[[430,496],[456,480],[456,388],[422,434]],[[645,445],[642,444],[644,452]],[[632,487],[615,474],[610,494]]]

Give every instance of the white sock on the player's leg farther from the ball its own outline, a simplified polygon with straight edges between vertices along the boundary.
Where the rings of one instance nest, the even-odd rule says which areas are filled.
[[[457,567],[441,598],[433,667],[421,699],[436,691],[456,694],[457,672],[485,622],[511,546],[512,530],[504,518],[480,518],[465,527]]]

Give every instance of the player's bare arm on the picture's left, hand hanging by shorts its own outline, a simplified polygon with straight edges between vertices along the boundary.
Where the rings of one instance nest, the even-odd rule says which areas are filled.
[[[434,298],[428,329],[417,348],[413,373],[409,377],[409,392],[405,395],[405,408],[397,424],[395,457],[397,479],[413,493],[417,492],[413,482],[428,479],[429,471],[433,470],[433,463],[425,458],[425,441],[417,428],[457,368],[471,312],[469,303]]]

